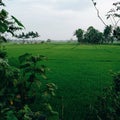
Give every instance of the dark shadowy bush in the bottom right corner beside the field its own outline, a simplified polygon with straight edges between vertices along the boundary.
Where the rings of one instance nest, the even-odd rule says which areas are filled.
[[[120,72],[113,74],[113,85],[90,105],[86,120],[120,120]]]

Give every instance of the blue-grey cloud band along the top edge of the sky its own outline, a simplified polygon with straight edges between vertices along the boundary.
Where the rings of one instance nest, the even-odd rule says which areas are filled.
[[[19,0],[24,5],[44,5],[55,10],[86,10],[91,6],[90,0]]]

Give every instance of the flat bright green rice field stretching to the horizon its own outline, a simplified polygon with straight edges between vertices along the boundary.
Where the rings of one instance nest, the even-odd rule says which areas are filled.
[[[83,120],[86,105],[93,104],[102,89],[112,83],[110,70],[120,70],[117,45],[6,45],[6,49],[14,65],[17,57],[26,52],[48,57],[44,62],[51,69],[47,81],[58,86],[52,103],[64,120]]]

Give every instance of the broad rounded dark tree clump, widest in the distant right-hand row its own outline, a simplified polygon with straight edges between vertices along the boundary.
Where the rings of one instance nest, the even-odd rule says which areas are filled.
[[[84,41],[92,44],[102,43],[103,34],[96,30],[93,26],[90,26],[84,35]]]

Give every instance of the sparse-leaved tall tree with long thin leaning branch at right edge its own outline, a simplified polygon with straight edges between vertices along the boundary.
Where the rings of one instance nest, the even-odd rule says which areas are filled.
[[[101,22],[105,25],[105,31],[104,31],[104,36],[106,38],[106,41],[109,41],[110,34],[112,34],[114,38],[119,40],[120,36],[120,31],[119,31],[119,25],[118,23],[120,22],[120,2],[114,2],[113,3],[113,8],[111,8],[106,15],[107,19],[111,20],[111,25],[107,24],[104,19],[100,16],[99,9],[97,8],[97,4],[95,0],[91,0],[96,11],[97,11],[97,16],[101,20]],[[113,40],[112,40],[113,41]]]

